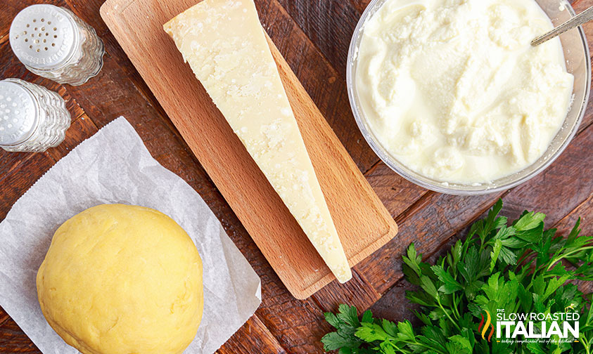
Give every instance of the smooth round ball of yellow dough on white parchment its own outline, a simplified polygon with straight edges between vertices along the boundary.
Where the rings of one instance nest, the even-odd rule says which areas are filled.
[[[202,261],[165,214],[98,205],[53,235],[37,295],[49,325],[84,354],[183,353],[202,319]]]

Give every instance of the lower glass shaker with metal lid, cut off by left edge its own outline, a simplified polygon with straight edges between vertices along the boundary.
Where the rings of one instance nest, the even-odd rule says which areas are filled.
[[[20,79],[0,81],[0,147],[42,152],[59,145],[70,113],[58,93]]]

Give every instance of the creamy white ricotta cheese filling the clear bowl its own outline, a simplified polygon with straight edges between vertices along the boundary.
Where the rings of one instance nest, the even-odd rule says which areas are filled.
[[[387,0],[367,20],[355,84],[379,143],[440,182],[490,183],[539,159],[573,76],[534,0]]]

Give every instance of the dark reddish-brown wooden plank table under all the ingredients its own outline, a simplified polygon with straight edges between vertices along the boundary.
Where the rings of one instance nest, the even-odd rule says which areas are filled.
[[[18,77],[58,91],[68,102],[73,122],[65,142],[47,152],[8,153],[0,149],[0,220],[58,159],[102,126],[125,116],[153,157],[200,193],[262,279],[262,305],[218,353],[323,353],[319,339],[331,330],[323,313],[336,310],[342,302],[352,303],[360,310],[371,308],[377,315],[392,320],[410,317],[404,299],[408,286],[402,280],[400,261],[404,249],[416,242],[426,258],[438,256],[499,197],[504,199],[503,213],[507,216],[537,209],[547,214],[548,226],[564,231],[582,216],[584,231],[593,231],[592,104],[566,152],[528,183],[481,197],[430,192],[405,181],[380,162],[366,145],[350,112],[345,85],[347,48],[369,0],[255,0],[265,29],[400,225],[400,234],[394,240],[355,267],[351,282],[333,282],[310,299],[295,300],[101,20],[99,7],[103,0],[1,2],[0,79]],[[577,12],[593,5],[593,0],[571,2]],[[96,28],[107,51],[98,77],[79,87],[61,86],[28,72],[18,62],[8,43],[8,29],[18,11],[37,3],[70,8]],[[585,25],[585,29],[593,38],[593,24]],[[0,353],[40,353],[2,308]]]

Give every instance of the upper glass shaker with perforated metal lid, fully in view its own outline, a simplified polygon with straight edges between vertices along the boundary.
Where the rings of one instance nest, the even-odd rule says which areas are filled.
[[[67,8],[29,6],[16,15],[9,35],[28,70],[59,84],[82,85],[103,67],[103,41]]]

